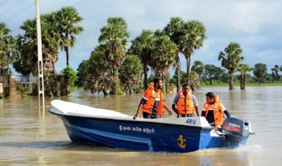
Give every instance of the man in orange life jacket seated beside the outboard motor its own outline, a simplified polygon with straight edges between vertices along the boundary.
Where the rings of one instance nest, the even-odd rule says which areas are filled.
[[[221,101],[219,101],[219,95],[213,92],[207,93],[201,116],[206,117],[209,125],[221,127],[224,122],[224,114],[227,118],[231,117],[228,110],[226,110]]]

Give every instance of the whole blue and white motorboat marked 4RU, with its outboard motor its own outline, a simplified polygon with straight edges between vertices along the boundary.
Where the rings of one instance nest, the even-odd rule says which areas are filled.
[[[250,122],[228,118],[221,129],[204,117],[136,119],[114,110],[54,100],[49,113],[63,120],[71,141],[145,151],[188,153],[204,148],[244,145],[252,132]]]

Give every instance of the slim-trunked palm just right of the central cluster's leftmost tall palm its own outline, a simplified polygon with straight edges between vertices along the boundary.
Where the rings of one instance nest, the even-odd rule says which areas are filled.
[[[131,41],[129,53],[137,55],[142,63],[143,73],[144,73],[144,82],[143,86],[147,89],[147,78],[149,72],[149,63],[151,61],[152,47],[154,37],[152,36],[153,32],[151,30],[142,30],[141,34]]]

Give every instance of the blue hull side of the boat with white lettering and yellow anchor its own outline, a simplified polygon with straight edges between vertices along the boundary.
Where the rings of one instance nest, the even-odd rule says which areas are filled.
[[[222,141],[221,136],[211,136],[211,129],[201,127],[93,117],[59,117],[73,142],[99,143],[145,151],[188,153],[203,148],[219,148]]]

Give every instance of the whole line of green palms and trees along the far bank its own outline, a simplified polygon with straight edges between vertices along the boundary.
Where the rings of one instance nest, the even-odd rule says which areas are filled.
[[[159,77],[164,83],[176,83],[177,89],[183,82],[200,87],[201,80],[212,84],[212,80],[228,77],[229,89],[233,89],[234,74],[241,72],[241,89],[245,89],[247,72],[253,71],[259,84],[266,78],[266,65],[257,63],[254,68],[243,64],[243,49],[240,44],[231,42],[219,52],[220,67],[204,65],[196,60],[190,70],[193,53],[201,49],[207,39],[207,28],[198,20],[183,20],[173,17],[162,30],[142,30],[129,41],[128,25],[123,18],[111,17],[100,29],[97,46],[90,58],[82,60],[77,71],[69,66],[70,50],[75,46],[76,36],[83,32],[80,26],[83,18],[71,6],[59,11],[42,14],[42,56],[44,86],[48,96],[71,94],[71,86],[85,90],[103,91],[104,94],[136,93],[147,89],[152,77]],[[0,23],[0,72],[9,75],[9,64],[16,72],[37,75],[37,30],[36,19],[28,19],[20,25],[23,34],[11,36],[11,30]],[[56,72],[55,64],[59,51],[66,51],[66,68]],[[80,55],[75,55],[80,56]],[[187,71],[180,70],[180,56],[186,59]],[[170,76],[173,68],[175,75]],[[276,65],[273,80],[280,80]],[[148,76],[152,71],[153,75]],[[227,79],[226,79],[227,80]],[[222,80],[225,82],[226,80]],[[61,87],[58,88],[58,87]]]

